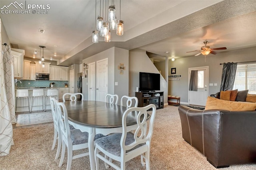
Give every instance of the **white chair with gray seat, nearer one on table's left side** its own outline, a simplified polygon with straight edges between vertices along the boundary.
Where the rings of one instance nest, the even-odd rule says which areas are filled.
[[[73,155],[73,150],[88,148],[88,132],[81,132],[79,129],[70,130],[69,123],[68,123],[68,113],[67,113],[65,104],[62,102],[60,103],[56,101],[56,108],[57,108],[56,110],[57,119],[60,125],[61,138],[62,138],[62,151],[61,151],[59,167],[61,167],[63,164],[65,150],[67,147],[67,150],[68,150],[67,170],[70,170],[72,159],[89,155],[88,152]],[[98,139],[100,137],[104,137],[104,136],[102,134],[97,134],[95,135],[94,139]]]

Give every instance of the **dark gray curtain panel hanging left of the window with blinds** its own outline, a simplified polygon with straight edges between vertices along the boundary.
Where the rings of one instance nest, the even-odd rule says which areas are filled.
[[[220,91],[233,90],[236,77],[237,63],[224,63],[222,68],[222,78]]]

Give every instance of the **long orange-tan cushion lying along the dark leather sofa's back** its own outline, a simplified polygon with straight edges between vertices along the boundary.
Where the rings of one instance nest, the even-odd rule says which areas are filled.
[[[254,111],[256,109],[256,103],[226,101],[209,96],[207,98],[205,106],[205,110],[208,109],[224,109],[230,111]]]

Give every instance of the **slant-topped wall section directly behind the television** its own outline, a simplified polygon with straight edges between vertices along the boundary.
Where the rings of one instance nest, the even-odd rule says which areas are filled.
[[[146,51],[134,49],[129,51],[129,96],[135,96],[136,87],[139,87],[139,72],[159,73],[158,69],[146,55]],[[160,91],[164,92],[164,103],[167,103],[168,86],[164,77],[160,76]]]

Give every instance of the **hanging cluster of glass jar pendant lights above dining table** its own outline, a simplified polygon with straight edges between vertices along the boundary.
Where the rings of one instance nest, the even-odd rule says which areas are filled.
[[[110,37],[111,37],[110,30],[116,30],[116,35],[123,35],[124,21],[121,20],[121,0],[120,0],[120,20],[116,20],[116,6],[114,5],[114,0],[112,0],[112,3],[110,6],[108,6],[109,0],[100,0],[100,16],[98,16],[98,18],[96,19],[96,6],[97,6],[96,1],[97,0],[95,0],[95,20],[96,21],[95,21],[95,31],[92,31],[92,43],[99,42],[99,35],[101,37],[104,37],[105,42],[110,42]],[[104,7],[105,7],[105,21],[104,21]]]

